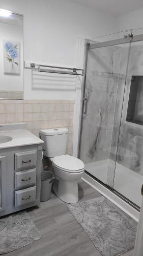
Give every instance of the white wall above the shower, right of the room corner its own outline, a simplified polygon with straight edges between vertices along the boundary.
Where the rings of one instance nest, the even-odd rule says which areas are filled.
[[[143,27],[143,9],[139,9],[119,17],[118,22],[120,31]]]

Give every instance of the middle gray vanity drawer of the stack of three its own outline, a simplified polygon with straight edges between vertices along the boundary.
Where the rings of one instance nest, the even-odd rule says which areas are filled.
[[[14,173],[14,187],[36,184],[36,168]]]

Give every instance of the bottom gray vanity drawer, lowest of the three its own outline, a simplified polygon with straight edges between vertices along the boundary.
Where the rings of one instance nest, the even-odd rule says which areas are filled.
[[[22,190],[17,190],[15,194],[15,207],[23,204],[28,204],[36,200],[36,186]]]

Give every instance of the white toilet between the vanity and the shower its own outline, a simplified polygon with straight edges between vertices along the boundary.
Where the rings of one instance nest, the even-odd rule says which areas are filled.
[[[67,128],[46,129],[40,131],[44,141],[43,155],[50,158],[57,180],[53,191],[66,203],[78,202],[77,181],[84,173],[84,163],[73,156],[65,155],[68,140]]]

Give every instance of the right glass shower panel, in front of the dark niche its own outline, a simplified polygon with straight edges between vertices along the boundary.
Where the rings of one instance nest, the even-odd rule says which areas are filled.
[[[138,206],[143,184],[142,40],[142,35],[133,36],[131,42],[113,183],[113,189]],[[117,98],[120,98],[120,94]]]

